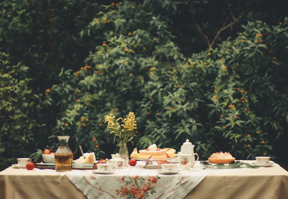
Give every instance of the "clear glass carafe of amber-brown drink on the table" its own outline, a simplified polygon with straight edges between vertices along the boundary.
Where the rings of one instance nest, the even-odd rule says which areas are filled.
[[[72,171],[73,153],[68,146],[70,136],[57,136],[59,146],[55,152],[55,170]]]

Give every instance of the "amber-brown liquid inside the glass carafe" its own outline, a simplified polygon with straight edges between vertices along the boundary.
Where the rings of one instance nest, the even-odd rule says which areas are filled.
[[[55,170],[58,172],[72,171],[72,162],[73,154],[55,154]]]

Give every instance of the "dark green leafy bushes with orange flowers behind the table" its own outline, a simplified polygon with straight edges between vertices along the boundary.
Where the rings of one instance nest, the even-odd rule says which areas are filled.
[[[109,157],[104,115],[130,111],[130,152],[189,139],[202,160],[222,150],[285,163],[288,18],[273,5],[2,1],[1,169],[57,135],[75,157],[79,144]]]

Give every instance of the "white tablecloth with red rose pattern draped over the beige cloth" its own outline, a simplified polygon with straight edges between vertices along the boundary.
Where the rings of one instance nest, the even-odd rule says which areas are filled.
[[[116,169],[109,175],[93,170],[64,172],[75,186],[89,199],[94,198],[184,198],[206,175],[229,172],[235,169],[205,169],[197,163],[189,171],[173,175],[158,173],[159,169],[144,169],[145,163],[137,161],[135,167]],[[248,169],[238,168],[236,170]]]

